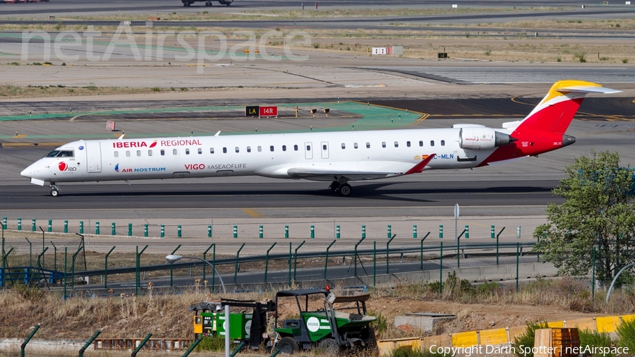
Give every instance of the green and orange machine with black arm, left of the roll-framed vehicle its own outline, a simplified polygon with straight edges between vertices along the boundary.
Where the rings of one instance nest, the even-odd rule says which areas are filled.
[[[229,338],[236,343],[243,343],[252,349],[265,341],[269,341],[267,334],[267,312],[275,311],[276,304],[273,301],[248,301],[223,298],[220,301],[209,301],[191,305],[188,311],[194,311],[194,334],[203,336],[224,336],[225,314],[222,310],[225,305],[230,308],[253,308],[248,313],[229,314]]]

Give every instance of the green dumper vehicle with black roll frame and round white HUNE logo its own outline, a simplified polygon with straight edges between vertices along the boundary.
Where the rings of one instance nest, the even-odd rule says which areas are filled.
[[[278,307],[280,298],[295,299],[299,313],[298,318],[285,319],[278,327],[279,309],[276,310],[274,348],[279,353],[376,349],[375,333],[370,327],[376,318],[366,312],[365,302],[370,295],[334,296],[328,290],[308,289],[278,291],[275,298]]]

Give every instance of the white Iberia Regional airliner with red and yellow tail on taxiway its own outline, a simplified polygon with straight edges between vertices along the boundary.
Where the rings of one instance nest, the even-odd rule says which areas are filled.
[[[494,129],[452,128],[80,140],[56,148],[22,176],[59,195],[58,183],[210,176],[265,176],[332,181],[351,195],[349,181],[467,169],[536,156],[575,143],[565,135],[587,93],[617,93],[595,83],[561,80],[525,119]]]

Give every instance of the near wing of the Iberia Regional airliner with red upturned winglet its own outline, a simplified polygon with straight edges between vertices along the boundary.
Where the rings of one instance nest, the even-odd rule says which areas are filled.
[[[417,174],[423,171],[430,160],[434,159],[435,154],[428,155],[425,159],[418,162],[416,165],[406,171],[370,171],[368,169],[346,169],[346,170],[334,170],[334,169],[322,169],[322,168],[306,168],[298,167],[287,170],[287,174],[292,178],[305,178],[313,181],[339,181],[340,178],[345,178],[346,181],[363,181],[374,180],[377,178],[387,178],[392,176],[403,176],[409,174]]]

